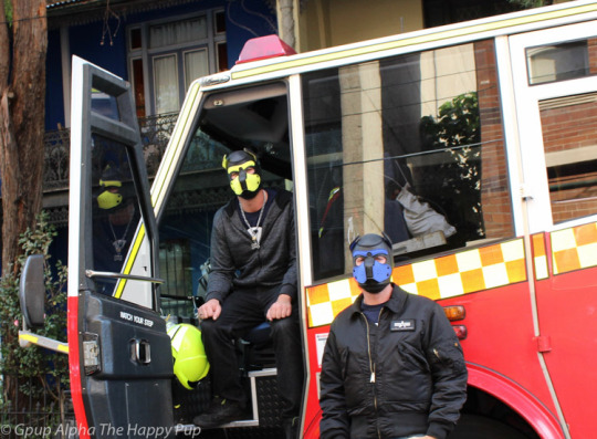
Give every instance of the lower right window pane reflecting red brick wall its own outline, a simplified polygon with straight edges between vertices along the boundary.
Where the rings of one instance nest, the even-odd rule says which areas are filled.
[[[540,103],[554,223],[597,211],[597,93]]]

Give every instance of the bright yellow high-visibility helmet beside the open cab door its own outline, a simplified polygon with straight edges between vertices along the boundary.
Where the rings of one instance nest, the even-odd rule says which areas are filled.
[[[182,387],[192,390],[209,372],[201,331],[188,323],[168,330],[172,346],[174,373]]]

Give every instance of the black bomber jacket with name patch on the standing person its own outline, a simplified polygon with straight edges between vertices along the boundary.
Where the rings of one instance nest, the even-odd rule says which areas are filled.
[[[394,285],[376,326],[363,294],[332,323],[321,374],[321,437],[443,439],[467,399],[462,348],[436,302]]]

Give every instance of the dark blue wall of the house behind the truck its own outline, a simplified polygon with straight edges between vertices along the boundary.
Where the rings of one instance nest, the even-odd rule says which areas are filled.
[[[245,2],[247,4],[247,2]],[[70,54],[81,56],[112,73],[128,80],[126,32],[127,27],[147,21],[163,20],[200,12],[207,9],[227,9],[226,28],[228,43],[228,64],[231,67],[238,60],[242,46],[247,40],[276,33],[276,19],[264,1],[252,1],[249,7],[241,2],[224,0],[205,0],[198,3],[188,3],[176,8],[158,9],[149,12],[129,13],[121,17],[121,22],[115,18],[108,20],[113,33],[112,44],[109,36],[102,35],[104,23],[102,21],[72,25],[69,28]],[[51,25],[51,18],[50,18]],[[115,33],[115,35],[114,35]],[[60,44],[60,30],[49,31],[48,62],[46,62],[46,112],[45,129],[52,130],[61,126],[67,126],[64,116],[64,97],[62,80],[62,54]],[[70,76],[70,75],[69,75]]]

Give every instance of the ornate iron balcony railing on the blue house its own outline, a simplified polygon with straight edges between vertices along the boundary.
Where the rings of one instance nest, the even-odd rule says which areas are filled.
[[[178,113],[169,113],[139,119],[145,164],[149,177],[156,175],[177,118]],[[70,148],[70,129],[56,129],[45,133],[44,191],[62,190],[69,187]]]

